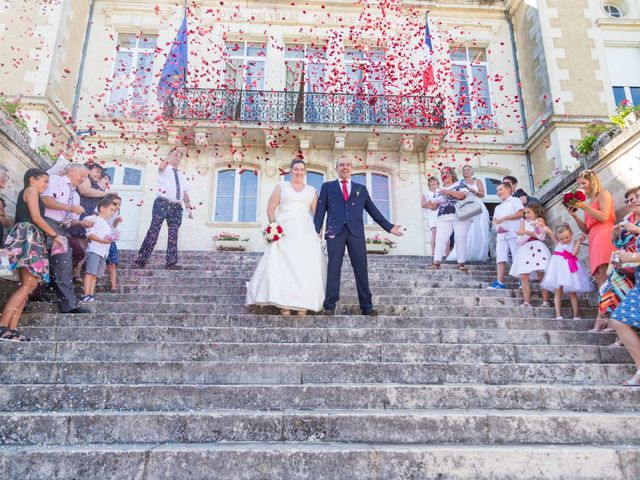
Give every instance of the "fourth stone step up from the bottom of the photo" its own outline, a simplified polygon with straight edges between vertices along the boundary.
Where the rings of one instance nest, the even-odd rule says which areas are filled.
[[[579,363],[0,361],[6,384],[564,384],[615,385],[635,367]]]

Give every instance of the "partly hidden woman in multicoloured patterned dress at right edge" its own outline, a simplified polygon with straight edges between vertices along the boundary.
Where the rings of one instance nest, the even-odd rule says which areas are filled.
[[[629,210],[624,219],[613,228],[611,241],[616,250],[634,253],[636,240],[640,235],[640,187],[631,188],[624,195],[624,203]],[[612,268],[607,280],[600,287],[598,309],[601,314],[611,314],[633,288],[635,268]]]

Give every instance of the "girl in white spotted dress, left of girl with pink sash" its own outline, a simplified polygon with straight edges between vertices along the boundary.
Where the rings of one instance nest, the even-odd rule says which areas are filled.
[[[542,281],[551,258],[551,252],[543,243],[547,236],[544,208],[539,203],[530,203],[524,208],[524,220],[517,230],[518,252],[513,259],[509,275],[520,277],[522,282],[522,307],[531,306],[531,273],[536,272]],[[549,292],[542,290],[542,306],[549,305]]]

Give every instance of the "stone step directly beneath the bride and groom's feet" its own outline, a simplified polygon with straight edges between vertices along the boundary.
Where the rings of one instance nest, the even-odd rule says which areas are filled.
[[[586,332],[593,325],[593,320],[555,320],[523,316],[512,318],[505,315],[487,314],[486,316],[429,315],[424,317],[378,315],[268,315],[268,314],[212,314],[212,313],[90,313],[90,314],[57,314],[29,313],[23,316],[23,326],[44,327],[76,327],[76,326],[166,326],[174,327],[254,327],[254,328],[451,328],[451,329],[483,329],[483,330],[543,330],[543,331],[578,331]],[[602,335],[602,334],[594,334]]]

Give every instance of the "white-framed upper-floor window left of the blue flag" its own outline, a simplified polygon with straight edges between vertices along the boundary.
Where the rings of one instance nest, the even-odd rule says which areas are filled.
[[[120,46],[120,38],[121,36],[130,36],[130,37],[136,37],[136,45],[134,47],[121,47]],[[155,39],[153,46],[147,46],[147,47],[140,47],[140,42],[142,39]],[[113,66],[111,68],[111,88],[109,89],[109,100],[107,102],[107,113],[109,114],[109,116],[112,117],[118,117],[118,116],[127,116],[127,115],[131,115],[131,114],[140,114],[142,113],[142,111],[144,110],[144,108],[142,108],[142,111],[137,111],[137,108],[140,107],[145,107],[148,106],[150,103],[150,100],[152,100],[153,96],[151,95],[151,91],[154,87],[153,82],[155,79],[154,76],[154,68],[155,68],[155,63],[156,63],[156,47],[158,46],[158,35],[156,34],[134,34],[134,33],[126,33],[126,32],[119,32],[118,33],[118,47],[116,50],[116,55],[113,61]],[[123,97],[122,100],[122,104],[120,104],[120,102],[112,102],[113,100],[113,89],[114,89],[114,83],[117,75],[116,75],[116,71],[118,70],[118,54],[119,53],[127,53],[129,55],[131,55],[132,61],[131,61],[131,70],[129,71],[128,75],[127,75],[127,81],[126,81],[126,85],[120,85],[120,88],[126,88],[127,90],[127,94],[126,97]],[[135,102],[133,101],[133,90],[135,88],[135,82],[136,82],[136,73],[138,71],[138,60],[140,57],[140,54],[147,54],[150,55],[152,57],[151,60],[151,65],[150,65],[150,69],[151,71],[148,72],[149,78],[151,79],[147,91],[146,91],[146,95],[144,97],[144,101],[143,102]],[[123,75],[124,78],[124,75]]]

